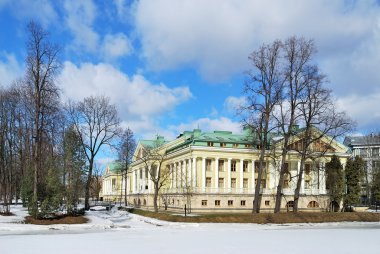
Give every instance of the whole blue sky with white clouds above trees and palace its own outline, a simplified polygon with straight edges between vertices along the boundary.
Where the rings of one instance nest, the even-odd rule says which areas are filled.
[[[379,0],[0,0],[0,84],[23,75],[26,24],[60,44],[63,99],[107,95],[138,137],[240,131],[248,55],[292,35],[317,63],[358,132],[380,127]]]

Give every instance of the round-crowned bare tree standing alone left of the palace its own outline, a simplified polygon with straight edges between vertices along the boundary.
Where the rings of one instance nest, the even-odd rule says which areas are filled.
[[[88,164],[85,188],[85,209],[89,210],[90,187],[95,157],[103,146],[112,146],[119,135],[119,118],[116,107],[104,96],[87,97],[79,103],[70,103],[69,117],[79,133]]]

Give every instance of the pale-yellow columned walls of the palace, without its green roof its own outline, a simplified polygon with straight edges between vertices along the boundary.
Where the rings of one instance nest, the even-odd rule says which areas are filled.
[[[228,137],[228,135],[227,135]],[[187,136],[179,137],[165,143],[157,149],[166,153],[162,167],[170,172],[168,180],[160,190],[159,206],[161,209],[183,211],[185,205],[192,212],[248,212],[253,208],[255,183],[259,150],[249,145],[245,147],[226,147],[214,142],[211,146],[190,145],[174,149],[186,142]],[[328,142],[328,140],[326,140]],[[281,144],[279,143],[279,146]],[[329,141],[331,151],[323,156],[309,159],[307,170],[301,184],[299,208],[301,211],[323,211],[329,207],[326,191],[325,163],[333,154],[345,164],[349,154],[346,148]],[[130,203],[151,209],[153,206],[153,183],[148,176],[147,164],[139,159],[138,154],[143,149],[139,144],[136,150],[136,160],[128,175],[128,200]],[[270,154],[276,154],[273,159]],[[276,187],[279,179],[280,151],[267,151],[264,188],[262,189],[262,211],[273,211]],[[298,152],[289,152],[286,163],[289,177],[283,189],[283,210],[292,207],[296,176],[300,167]]]

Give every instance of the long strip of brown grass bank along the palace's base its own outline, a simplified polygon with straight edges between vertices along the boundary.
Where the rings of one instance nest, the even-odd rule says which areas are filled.
[[[347,213],[244,213],[244,214],[202,214],[199,216],[184,217],[168,212],[151,212],[140,209],[131,211],[134,214],[171,222],[193,223],[258,223],[258,224],[285,224],[285,223],[322,223],[322,222],[379,222],[380,213],[347,212]]]

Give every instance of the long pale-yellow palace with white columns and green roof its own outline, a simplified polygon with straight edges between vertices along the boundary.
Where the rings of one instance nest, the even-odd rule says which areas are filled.
[[[300,145],[302,129],[296,129],[291,147]],[[272,134],[266,151],[262,179],[262,211],[273,211],[282,137]],[[253,208],[260,149],[255,137],[246,128],[242,134],[229,131],[185,131],[173,141],[158,136],[156,140],[138,143],[131,171],[127,176],[127,195],[131,204],[153,208],[153,172],[165,174],[159,191],[160,209],[202,212],[248,212]],[[160,164],[146,158],[146,149],[161,154]],[[324,211],[330,207],[326,190],[325,163],[337,155],[344,165],[350,156],[348,148],[329,137],[313,144],[313,153],[306,161],[301,184],[300,211]],[[157,159],[157,158],[156,158]],[[292,209],[293,195],[300,168],[300,156],[291,150],[286,159],[288,168],[283,183],[282,208]],[[152,167],[155,167],[152,171]],[[161,167],[158,170],[157,167]],[[163,173],[165,172],[165,173]]]

